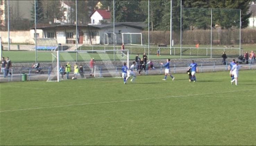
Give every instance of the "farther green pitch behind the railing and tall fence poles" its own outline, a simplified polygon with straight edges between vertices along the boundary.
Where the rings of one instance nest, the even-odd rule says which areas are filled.
[[[135,46],[132,46],[132,45],[126,46],[126,49],[130,49],[130,47],[135,47]],[[176,45],[174,47],[179,47],[179,45]],[[195,46],[183,45],[183,47],[195,47]],[[201,45],[200,47],[209,47],[209,46]],[[213,46],[213,47],[221,47],[221,46]],[[239,47],[239,46],[235,46],[235,47]],[[120,45],[117,45],[117,48],[120,48]],[[251,50],[256,51],[255,45],[242,46],[242,48],[244,48],[244,52],[245,51],[250,52]],[[91,49],[92,49],[91,47],[83,47],[82,48],[82,50],[91,50]],[[94,47],[93,49],[94,50],[104,50],[104,46],[100,45],[99,47]],[[106,46],[106,49],[113,49],[113,48],[111,48],[111,45],[109,45],[109,46]],[[158,49],[158,47],[151,48],[150,56],[148,56],[150,59],[166,59],[166,58],[178,59],[178,58],[180,58],[180,49],[175,50],[175,52],[176,52],[175,55],[174,55],[174,50],[173,50],[173,55],[168,55],[168,53],[170,53],[169,49],[161,49],[162,55],[159,57],[156,56],[157,49]],[[139,53],[142,56],[145,50],[144,50],[144,48],[133,48],[131,51],[132,51],[132,54],[130,54],[130,60],[134,60],[136,53]],[[184,58],[184,59],[186,59],[186,58],[210,58],[210,51],[211,51],[211,49],[208,49],[208,56],[206,56],[206,49],[199,49],[199,50],[192,49],[191,50],[192,56],[190,56],[190,49],[184,48],[184,49],[182,49],[182,58]],[[236,54],[236,56],[237,56],[237,54],[239,54],[239,50],[226,49],[225,51],[227,53],[227,56],[232,56],[233,54]],[[223,49],[213,49],[212,50],[213,57],[221,58],[222,52],[223,52]],[[197,53],[199,53],[199,56],[197,56]],[[146,54],[148,55],[147,48],[146,48]],[[12,60],[12,62],[35,62],[35,59],[36,59],[35,51],[3,51],[3,57],[9,57]],[[52,60],[51,52],[37,51],[37,57],[38,57],[37,62],[51,62],[51,60]],[[97,58],[97,57],[95,57],[95,58]],[[82,58],[80,58],[80,59],[82,59]],[[113,57],[111,59],[113,59]],[[99,60],[100,60],[100,58],[99,58]]]

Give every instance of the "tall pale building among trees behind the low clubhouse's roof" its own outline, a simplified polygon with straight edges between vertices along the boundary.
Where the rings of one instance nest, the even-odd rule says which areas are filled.
[[[55,19],[54,22],[61,24],[73,24],[75,20],[72,20],[72,17],[75,16],[75,10],[71,8],[75,3],[71,1],[63,1],[61,0],[61,8],[63,11],[63,17],[61,20]],[[72,16],[72,14],[74,16]]]

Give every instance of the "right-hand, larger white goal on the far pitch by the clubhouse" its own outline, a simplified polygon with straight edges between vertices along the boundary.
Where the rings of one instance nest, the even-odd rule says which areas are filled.
[[[142,33],[121,33],[122,43],[127,45],[142,45]]]

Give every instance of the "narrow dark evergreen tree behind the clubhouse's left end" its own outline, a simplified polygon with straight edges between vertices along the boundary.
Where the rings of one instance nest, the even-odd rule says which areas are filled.
[[[33,3],[33,7],[31,10],[31,18],[33,19],[32,23],[35,22],[35,4],[36,4],[36,22],[42,22],[44,20],[42,0],[36,0],[36,3]]]

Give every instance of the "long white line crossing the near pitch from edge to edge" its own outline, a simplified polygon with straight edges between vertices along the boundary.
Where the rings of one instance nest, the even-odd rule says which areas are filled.
[[[249,91],[249,90],[256,90],[256,89],[247,89],[247,90],[239,90],[239,91]],[[142,98],[142,99],[133,99],[133,100],[107,101],[107,102],[98,102],[98,103],[84,103],[84,104],[72,104],[72,105],[61,105],[61,106],[48,106],[48,107],[24,108],[24,109],[13,109],[13,110],[1,110],[0,112],[31,110],[31,109],[43,109],[43,108],[56,108],[56,107],[68,107],[68,106],[80,106],[80,105],[96,105],[96,104],[122,103],[122,102],[150,100],[150,99],[162,99],[162,98],[172,98],[172,97],[186,97],[186,96],[196,96],[196,95],[228,93],[228,92],[234,92],[234,91],[237,91],[237,90],[222,91],[222,92],[215,92],[215,93],[193,94],[193,95],[178,95],[178,96],[156,97],[156,98]]]

